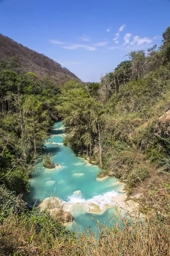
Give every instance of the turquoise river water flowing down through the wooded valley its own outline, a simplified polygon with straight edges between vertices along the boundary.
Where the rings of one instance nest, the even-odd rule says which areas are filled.
[[[64,135],[62,122],[55,122],[43,153],[51,153],[53,162],[60,166],[46,169],[40,160],[37,164],[39,170],[33,173],[33,178],[30,180],[31,192],[27,198],[28,203],[34,204],[36,200],[42,201],[55,195],[70,205],[93,203],[102,209],[106,204],[111,204],[112,198],[122,193],[122,184],[119,184],[116,178],[96,180],[99,167],[77,157],[69,147],[63,145]],[[74,194],[76,190],[80,190],[81,194]],[[68,226],[68,229],[73,231],[84,231],[88,227],[95,229],[96,220],[106,223],[113,211],[113,208],[110,208],[102,215],[97,215],[75,208],[71,213],[74,222]]]

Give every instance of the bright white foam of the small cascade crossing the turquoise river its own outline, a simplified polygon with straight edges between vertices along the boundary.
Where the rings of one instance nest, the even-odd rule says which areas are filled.
[[[71,205],[73,204],[77,204],[77,203],[82,203],[85,205],[88,204],[96,204],[99,206],[99,208],[102,210],[102,208],[105,206],[105,204],[111,205],[112,203],[112,198],[116,197],[117,195],[119,195],[118,192],[112,190],[109,192],[105,192],[103,194],[99,194],[99,195],[94,195],[92,198],[86,200],[85,198],[83,198],[81,195],[70,195],[67,198],[67,202],[65,203],[69,203]]]

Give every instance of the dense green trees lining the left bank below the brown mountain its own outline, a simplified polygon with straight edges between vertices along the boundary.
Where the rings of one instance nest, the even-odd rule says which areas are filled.
[[[28,190],[34,161],[58,115],[59,88],[47,76],[18,74],[0,61],[0,183],[19,193]]]

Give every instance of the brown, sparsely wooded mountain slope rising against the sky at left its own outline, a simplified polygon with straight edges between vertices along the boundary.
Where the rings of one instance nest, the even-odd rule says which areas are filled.
[[[74,73],[56,61],[2,34],[0,34],[0,58],[18,62],[25,73],[33,72],[39,77],[50,76],[56,84],[64,84],[69,80],[80,81]]]

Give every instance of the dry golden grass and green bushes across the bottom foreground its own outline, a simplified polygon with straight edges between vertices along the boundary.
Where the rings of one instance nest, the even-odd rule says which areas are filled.
[[[142,191],[140,211],[122,217],[119,209],[98,223],[98,233],[69,233],[48,213],[35,209],[11,214],[0,225],[0,253],[8,256],[160,256],[170,255],[170,186]],[[111,223],[113,225],[111,225]]]

